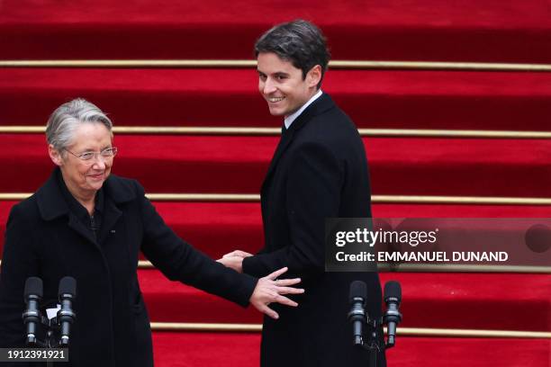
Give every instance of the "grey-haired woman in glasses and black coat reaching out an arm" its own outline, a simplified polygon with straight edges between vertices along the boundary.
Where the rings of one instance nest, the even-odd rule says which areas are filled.
[[[257,280],[212,261],[167,227],[140,183],[111,175],[112,122],[94,104],[62,104],[46,128],[56,165],[50,179],[14,206],[8,219],[0,276],[0,347],[24,343],[23,287],[44,283],[43,300],[57,300],[59,280],[77,280],[69,358],[72,366],[153,365],[149,317],[137,277],[140,250],[168,279],[185,282],[268,316],[270,302],[299,279]],[[21,366],[21,363],[17,363]]]

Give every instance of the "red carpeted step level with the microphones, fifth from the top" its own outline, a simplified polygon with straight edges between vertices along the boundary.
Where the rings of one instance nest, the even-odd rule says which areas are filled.
[[[259,323],[256,309],[241,309],[203,291],[140,270],[151,321]],[[551,330],[551,275],[527,273],[381,273],[402,284],[403,327]],[[308,291],[308,290],[306,290]],[[300,297],[296,300],[300,303]],[[488,310],[492,309],[489,313]],[[346,315],[343,315],[346,320]]]

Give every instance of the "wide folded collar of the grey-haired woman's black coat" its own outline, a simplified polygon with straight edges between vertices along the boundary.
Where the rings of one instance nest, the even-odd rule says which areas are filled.
[[[37,204],[44,220],[52,220],[68,215],[68,204],[59,188],[59,175],[61,175],[61,170],[56,167],[48,181],[36,192]],[[113,201],[116,204],[132,201],[136,198],[136,193],[130,190],[127,184],[116,175],[109,176],[104,183],[104,189],[106,205],[108,201]]]

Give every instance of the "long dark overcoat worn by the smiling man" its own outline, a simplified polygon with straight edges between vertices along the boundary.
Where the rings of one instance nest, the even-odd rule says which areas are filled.
[[[366,151],[357,128],[321,94],[284,131],[261,189],[265,247],[243,261],[243,271],[264,276],[282,266],[303,278],[298,308],[274,305],[264,318],[263,367],[366,366],[352,345],[350,282],[367,284],[367,311],[381,314],[377,273],[324,273],[326,218],[371,217]],[[379,360],[384,365],[384,356]]]

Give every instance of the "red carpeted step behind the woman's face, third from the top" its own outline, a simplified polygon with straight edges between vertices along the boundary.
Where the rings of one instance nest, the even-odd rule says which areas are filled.
[[[42,135],[1,135],[0,192],[33,192]],[[121,135],[113,173],[147,192],[259,192],[278,137]],[[551,139],[365,138],[374,194],[551,197]],[[152,154],[151,152],[155,152]]]

